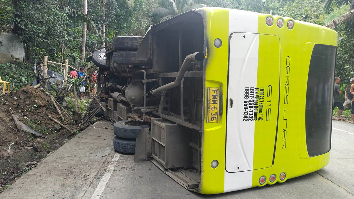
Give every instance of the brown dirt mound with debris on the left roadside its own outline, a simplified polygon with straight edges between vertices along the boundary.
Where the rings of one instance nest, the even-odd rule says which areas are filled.
[[[47,138],[18,130],[13,115]],[[33,166],[69,140],[67,136],[72,132],[48,116],[61,121],[69,129],[77,127],[68,118],[61,120],[50,96],[32,86],[0,96],[0,184],[23,171],[23,167]],[[0,193],[6,186],[8,184],[0,187]]]

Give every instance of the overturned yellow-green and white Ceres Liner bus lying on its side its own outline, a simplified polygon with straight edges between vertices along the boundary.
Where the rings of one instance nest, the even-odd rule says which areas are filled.
[[[336,46],[320,25],[214,7],[116,37],[98,77],[114,148],[202,194],[319,170]]]

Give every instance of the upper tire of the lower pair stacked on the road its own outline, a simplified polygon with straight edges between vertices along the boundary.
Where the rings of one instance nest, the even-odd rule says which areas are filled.
[[[132,121],[122,120],[113,124],[113,132],[115,136],[128,138],[128,139],[136,139],[138,133],[142,129],[150,128],[147,124],[140,124],[133,126]]]

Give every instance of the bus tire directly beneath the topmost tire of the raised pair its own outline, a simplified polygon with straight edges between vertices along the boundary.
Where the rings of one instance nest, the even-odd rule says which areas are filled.
[[[113,53],[113,63],[119,65],[150,65],[149,60],[137,60],[136,51],[118,51]]]

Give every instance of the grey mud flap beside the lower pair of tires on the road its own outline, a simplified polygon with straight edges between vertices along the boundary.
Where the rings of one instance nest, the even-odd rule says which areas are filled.
[[[149,128],[142,129],[136,137],[134,162],[141,163],[149,160],[151,155],[151,131]]]

